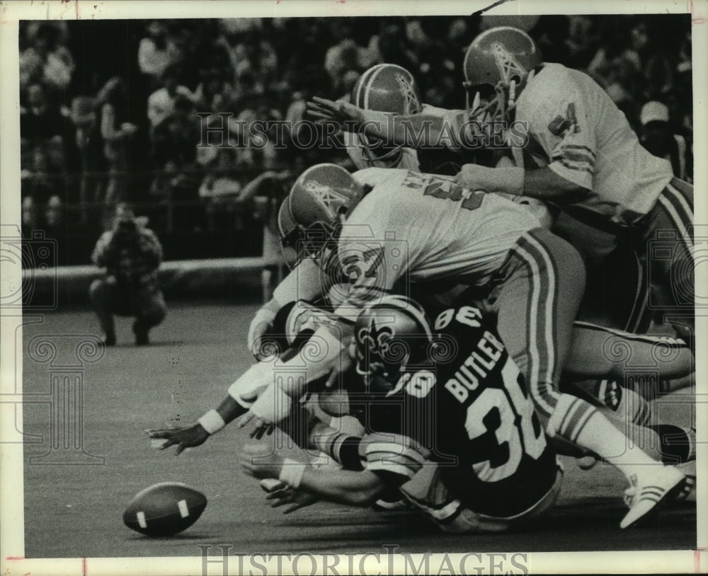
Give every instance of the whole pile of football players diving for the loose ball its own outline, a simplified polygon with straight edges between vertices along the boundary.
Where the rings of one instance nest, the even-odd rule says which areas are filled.
[[[179,453],[236,418],[287,432],[241,456],[275,505],[403,501],[457,532],[549,509],[557,454],[600,460],[627,476],[633,526],[695,483],[695,430],[624,386],[629,357],[663,389],[690,382],[692,188],[523,31],[479,35],[464,71],[465,110],[422,105],[392,64],[309,103],[360,169],[299,176],[279,221],[301,258],[251,323],[260,361],[194,425],[149,435]],[[619,318],[603,304],[624,282],[586,294],[617,254],[639,270]],[[644,334],[658,323],[671,335]]]

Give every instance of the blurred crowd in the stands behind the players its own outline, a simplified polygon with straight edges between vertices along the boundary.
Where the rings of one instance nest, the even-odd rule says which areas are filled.
[[[158,234],[267,221],[273,202],[253,199],[253,178],[346,155],[246,145],[250,122],[302,120],[308,98],[346,96],[379,62],[409,69],[424,102],[463,108],[464,50],[501,24],[528,30],[546,62],[587,71],[691,179],[687,15],[32,21],[20,35],[23,226],[100,231],[122,201]],[[211,134],[198,146],[202,122],[227,122],[244,145]]]

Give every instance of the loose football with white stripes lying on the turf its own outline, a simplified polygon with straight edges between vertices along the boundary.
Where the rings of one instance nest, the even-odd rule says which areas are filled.
[[[161,482],[135,495],[123,512],[125,525],[147,536],[171,536],[197,522],[207,498],[181,482]]]

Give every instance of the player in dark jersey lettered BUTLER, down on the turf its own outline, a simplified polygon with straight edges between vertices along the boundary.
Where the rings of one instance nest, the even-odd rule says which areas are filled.
[[[244,471],[290,490],[370,505],[392,488],[445,531],[516,528],[554,504],[562,471],[519,371],[485,318],[467,307],[440,318],[401,296],[384,296],[355,324],[364,385],[349,403],[365,416],[361,437],[316,427],[314,446],[343,468],[315,468],[259,442]],[[437,359],[437,361],[435,359]],[[464,374],[462,376],[461,374]],[[296,456],[297,457],[297,456]]]

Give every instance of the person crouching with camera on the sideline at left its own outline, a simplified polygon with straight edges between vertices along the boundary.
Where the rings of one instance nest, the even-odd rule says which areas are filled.
[[[91,255],[91,261],[106,271],[105,278],[94,280],[89,288],[106,346],[115,346],[114,314],[135,318],[135,344],[149,343],[149,330],[166,314],[157,276],[161,260],[157,236],[129,205],[119,204],[113,229],[98,238]]]

